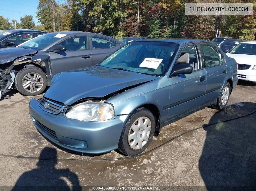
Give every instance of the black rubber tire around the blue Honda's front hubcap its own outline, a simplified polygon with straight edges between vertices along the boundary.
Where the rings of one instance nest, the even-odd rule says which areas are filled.
[[[150,131],[150,135],[148,138],[148,142],[142,148],[135,150],[135,149],[132,149],[128,143],[128,133],[129,133],[130,127],[134,123],[134,121],[142,116],[148,117],[150,119],[151,131]],[[146,108],[139,108],[139,109],[135,110],[131,114],[131,116],[128,118],[128,120],[125,123],[125,126],[122,130],[119,144],[118,144],[118,150],[127,156],[135,156],[135,155],[140,154],[141,152],[145,151],[145,149],[148,147],[148,145],[152,141],[152,138],[155,133],[155,126],[156,126],[155,116],[152,114],[152,112],[150,110],[148,110]]]

